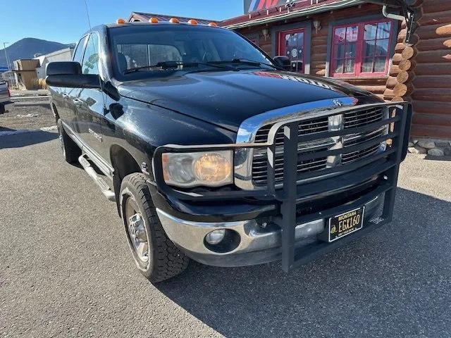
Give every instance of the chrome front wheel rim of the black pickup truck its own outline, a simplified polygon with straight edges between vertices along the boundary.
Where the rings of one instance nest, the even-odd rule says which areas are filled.
[[[125,219],[127,220],[128,236],[136,256],[142,263],[147,263],[149,261],[149,239],[140,209],[131,196],[125,202]]]

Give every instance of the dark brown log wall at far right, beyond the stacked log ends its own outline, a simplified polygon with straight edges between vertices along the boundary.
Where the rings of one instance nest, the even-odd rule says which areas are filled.
[[[412,135],[451,139],[451,1],[424,0],[420,9],[409,75]]]

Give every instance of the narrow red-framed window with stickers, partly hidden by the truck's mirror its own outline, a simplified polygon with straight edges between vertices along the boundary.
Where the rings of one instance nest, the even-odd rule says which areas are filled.
[[[290,58],[294,71],[304,73],[304,29],[287,30],[278,33],[278,55]]]

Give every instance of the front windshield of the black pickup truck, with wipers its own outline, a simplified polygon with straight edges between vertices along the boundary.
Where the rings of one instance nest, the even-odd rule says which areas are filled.
[[[221,28],[136,25],[111,28],[109,37],[118,80],[174,71],[274,68],[252,43]]]

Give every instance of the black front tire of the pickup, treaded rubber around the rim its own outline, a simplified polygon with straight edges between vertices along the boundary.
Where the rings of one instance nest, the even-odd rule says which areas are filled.
[[[128,220],[130,215],[127,215],[126,211],[128,199],[135,202],[134,205],[139,209],[138,211],[144,221],[148,245],[147,262],[139,258],[140,256],[132,244]],[[149,187],[147,187],[146,178],[143,174],[133,173],[124,177],[121,184],[121,215],[133,259],[144,277],[152,283],[157,283],[183,273],[190,263],[190,258],[166,236],[166,232],[156,214]]]

